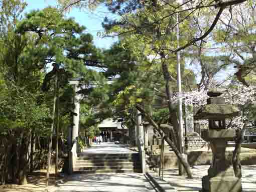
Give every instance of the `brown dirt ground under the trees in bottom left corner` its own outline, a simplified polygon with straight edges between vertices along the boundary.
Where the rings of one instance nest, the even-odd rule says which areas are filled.
[[[46,172],[33,172],[28,176],[28,184],[18,185],[18,184],[6,184],[0,185],[1,192],[41,192],[41,191],[55,191],[56,180],[55,174],[50,174],[49,185],[45,187],[46,182]]]

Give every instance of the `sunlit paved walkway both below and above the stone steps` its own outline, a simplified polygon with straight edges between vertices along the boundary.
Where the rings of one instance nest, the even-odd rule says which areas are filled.
[[[83,153],[136,153],[128,145],[93,144]],[[148,188],[147,188],[148,187]],[[142,173],[72,174],[58,182],[55,192],[153,192]]]

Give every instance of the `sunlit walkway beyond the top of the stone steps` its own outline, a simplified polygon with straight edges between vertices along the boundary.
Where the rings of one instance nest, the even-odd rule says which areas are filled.
[[[93,143],[92,147],[85,149],[83,153],[137,153],[137,151],[129,149],[128,146],[113,142]]]

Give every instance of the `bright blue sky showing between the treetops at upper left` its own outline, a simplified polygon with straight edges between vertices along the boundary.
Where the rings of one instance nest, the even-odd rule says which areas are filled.
[[[44,9],[48,6],[56,6],[55,0],[25,0],[28,4],[25,12],[28,13],[31,10]],[[103,7],[98,7],[95,11],[90,12],[88,10],[73,9],[70,13],[66,14],[66,17],[73,17],[75,21],[80,25],[87,28],[87,32],[93,35],[93,42],[98,48],[109,48],[111,44],[117,41],[117,38],[101,38],[97,37],[97,32],[103,32],[101,23],[105,16],[114,18],[116,16],[109,13],[109,11]]]

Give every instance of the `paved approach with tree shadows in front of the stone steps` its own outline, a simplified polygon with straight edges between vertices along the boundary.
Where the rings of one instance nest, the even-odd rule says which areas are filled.
[[[58,182],[55,192],[149,192],[141,173],[73,174]]]

